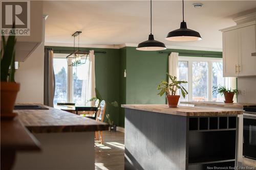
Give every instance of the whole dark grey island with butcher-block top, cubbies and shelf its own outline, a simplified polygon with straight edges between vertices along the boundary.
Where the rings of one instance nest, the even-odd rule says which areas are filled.
[[[125,108],[125,170],[234,169],[239,110],[167,105]]]

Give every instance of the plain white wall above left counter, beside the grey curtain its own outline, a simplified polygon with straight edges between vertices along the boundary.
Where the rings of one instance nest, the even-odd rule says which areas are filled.
[[[45,18],[42,19],[42,43],[24,62],[19,62],[15,72],[15,81],[20,83],[20,90],[15,103],[44,104],[44,53],[45,53]]]

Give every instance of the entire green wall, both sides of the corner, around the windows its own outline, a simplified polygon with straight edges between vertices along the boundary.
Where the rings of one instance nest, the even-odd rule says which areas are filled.
[[[59,50],[73,51],[73,47],[52,46],[55,53]],[[165,98],[157,95],[158,83],[167,80],[168,53],[178,52],[180,56],[219,57],[221,52],[191,51],[167,49],[159,52],[137,51],[136,47],[81,48],[81,50],[105,51],[106,54],[95,54],[96,88],[102,98],[108,102],[121,104],[165,104]],[[64,52],[63,52],[64,53]],[[126,78],[124,70],[126,69]],[[124,127],[124,109],[107,106],[117,126]]]

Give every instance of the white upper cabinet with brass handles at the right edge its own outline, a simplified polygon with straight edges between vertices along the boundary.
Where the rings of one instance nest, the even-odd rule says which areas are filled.
[[[223,76],[256,76],[256,21],[222,29]]]

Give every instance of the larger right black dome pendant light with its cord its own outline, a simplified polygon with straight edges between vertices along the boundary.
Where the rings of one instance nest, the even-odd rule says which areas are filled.
[[[199,32],[187,29],[187,24],[184,22],[184,0],[182,0],[182,16],[183,21],[180,23],[180,29],[171,31],[165,38],[168,41],[198,41],[201,40]]]

